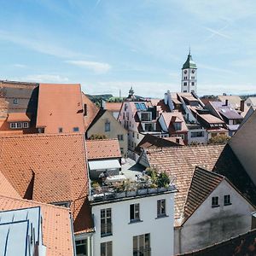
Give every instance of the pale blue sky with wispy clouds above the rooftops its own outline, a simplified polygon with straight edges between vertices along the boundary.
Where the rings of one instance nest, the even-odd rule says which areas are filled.
[[[256,93],[255,0],[0,0],[0,79],[79,83],[87,94]]]

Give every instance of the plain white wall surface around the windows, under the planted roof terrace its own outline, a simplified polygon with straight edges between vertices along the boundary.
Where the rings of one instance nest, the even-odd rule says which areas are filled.
[[[151,256],[173,254],[173,212],[174,193],[141,197],[119,202],[92,206],[96,233],[94,234],[94,255],[99,256],[100,244],[113,242],[113,256],[132,255],[133,236],[150,233]],[[157,217],[157,200],[166,199],[168,217]],[[130,224],[130,205],[140,204],[142,222]],[[101,209],[112,209],[113,236],[101,237]]]

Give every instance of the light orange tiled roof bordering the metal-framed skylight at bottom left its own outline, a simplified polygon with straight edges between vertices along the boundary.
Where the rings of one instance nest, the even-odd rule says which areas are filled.
[[[26,207],[41,207],[46,255],[73,256],[73,234],[69,209],[0,195],[0,211]]]

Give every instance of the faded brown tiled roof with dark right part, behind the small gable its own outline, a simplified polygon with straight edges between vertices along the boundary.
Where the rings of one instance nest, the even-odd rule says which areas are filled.
[[[149,165],[176,179],[175,218],[182,217],[195,166],[227,177],[242,195],[256,205],[256,187],[229,145],[173,147],[147,150]]]

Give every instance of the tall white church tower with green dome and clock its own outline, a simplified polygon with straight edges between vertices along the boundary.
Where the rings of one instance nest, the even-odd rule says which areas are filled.
[[[181,92],[196,93],[196,69],[195,62],[192,60],[189,49],[187,61],[183,64],[182,68]]]

